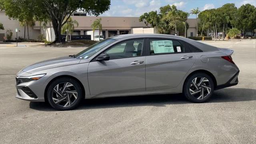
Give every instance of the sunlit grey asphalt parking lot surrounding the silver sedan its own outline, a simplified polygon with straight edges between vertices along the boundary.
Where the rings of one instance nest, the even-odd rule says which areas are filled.
[[[84,48],[0,44],[0,143],[253,144],[256,142],[256,39],[204,41],[234,50],[236,86],[217,90],[207,103],[181,94],[84,100],[71,111],[15,98],[15,75],[38,61]]]

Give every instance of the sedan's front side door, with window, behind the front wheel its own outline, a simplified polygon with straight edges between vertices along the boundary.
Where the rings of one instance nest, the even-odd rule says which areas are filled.
[[[90,94],[112,94],[146,90],[146,56],[143,53],[146,39],[120,42],[103,53],[110,60],[93,60],[88,66]]]

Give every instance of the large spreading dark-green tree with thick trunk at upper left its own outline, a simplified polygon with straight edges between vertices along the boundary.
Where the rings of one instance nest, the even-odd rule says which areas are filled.
[[[55,34],[54,42],[61,42],[61,28],[76,10],[98,16],[109,7],[110,0],[0,0],[1,10],[5,10],[11,18],[50,18]]]

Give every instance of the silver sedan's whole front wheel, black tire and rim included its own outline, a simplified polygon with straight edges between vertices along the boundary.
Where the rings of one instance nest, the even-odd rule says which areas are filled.
[[[58,78],[50,83],[47,90],[47,100],[56,110],[72,110],[82,99],[82,88],[72,78]]]

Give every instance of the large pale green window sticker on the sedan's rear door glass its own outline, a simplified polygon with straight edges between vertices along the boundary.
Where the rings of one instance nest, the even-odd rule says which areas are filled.
[[[174,52],[171,40],[156,40],[152,44],[155,54]]]

